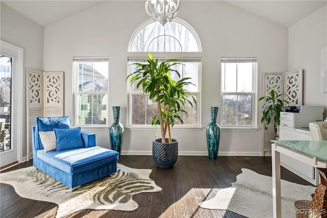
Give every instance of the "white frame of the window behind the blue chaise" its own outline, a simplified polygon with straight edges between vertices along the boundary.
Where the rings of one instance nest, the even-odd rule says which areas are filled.
[[[99,60],[99,59],[103,59],[106,60],[106,62],[108,62],[108,90],[107,91],[79,91],[78,90],[78,81],[79,81],[79,75],[78,75],[78,61],[77,60],[90,60],[90,59],[95,59],[95,60]],[[103,61],[104,62],[104,61]],[[73,57],[73,75],[74,75],[74,124],[75,126],[81,126],[81,127],[95,127],[95,128],[101,128],[101,127],[105,127],[108,128],[109,127],[109,110],[108,110],[108,105],[109,105],[109,57]],[[78,110],[79,110],[79,106],[83,105],[83,104],[78,104],[79,103],[79,95],[106,95],[106,123],[105,124],[80,124],[78,123]]]

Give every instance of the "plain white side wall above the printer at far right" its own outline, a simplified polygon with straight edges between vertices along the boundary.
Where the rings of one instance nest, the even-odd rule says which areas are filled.
[[[324,106],[327,117],[327,93],[320,92],[320,51],[327,45],[327,6],[289,28],[288,70],[304,70],[303,105]]]

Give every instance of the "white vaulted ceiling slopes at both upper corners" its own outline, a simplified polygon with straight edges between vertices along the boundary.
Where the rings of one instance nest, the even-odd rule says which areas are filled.
[[[112,1],[112,0],[106,0]],[[122,0],[121,0],[122,1]],[[145,2],[145,0],[142,0]],[[187,0],[182,0],[187,1]],[[218,1],[218,0],[214,0]],[[1,1],[15,11],[46,26],[58,20],[94,7],[105,1]],[[224,1],[250,13],[262,16],[277,24],[290,27],[299,20],[326,5],[320,1]],[[181,4],[182,7],[182,4]]]

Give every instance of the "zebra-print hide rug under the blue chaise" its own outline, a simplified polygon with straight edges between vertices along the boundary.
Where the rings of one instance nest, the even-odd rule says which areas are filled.
[[[62,217],[83,209],[137,209],[134,194],[162,190],[149,178],[151,171],[118,164],[116,175],[71,189],[31,166],[1,173],[0,182],[12,185],[22,198],[58,204],[56,217]]]

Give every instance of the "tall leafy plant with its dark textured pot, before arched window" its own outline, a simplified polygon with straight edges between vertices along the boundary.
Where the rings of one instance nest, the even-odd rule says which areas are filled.
[[[149,95],[149,99],[156,104],[157,112],[152,119],[152,125],[160,125],[161,138],[153,141],[152,156],[158,167],[169,168],[176,163],[178,157],[178,141],[171,138],[171,127],[176,120],[183,124],[181,114],[187,116],[184,111],[186,102],[191,106],[196,103],[194,96],[185,89],[186,85],[194,84],[188,81],[190,77],[180,79],[180,74],[174,66],[181,63],[176,62],[176,59],[159,63],[158,59],[153,60],[151,53],[148,56],[146,63],[132,63],[137,68],[126,80],[129,79],[131,84],[137,83],[136,88],[141,87],[143,93]],[[173,73],[179,80],[172,79]]]

